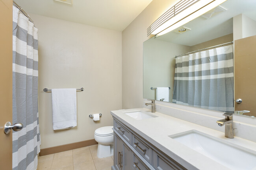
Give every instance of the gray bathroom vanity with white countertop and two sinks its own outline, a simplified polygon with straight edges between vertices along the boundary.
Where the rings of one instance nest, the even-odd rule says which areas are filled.
[[[256,169],[252,141],[228,139],[223,132],[146,108],[116,110],[111,115],[112,170]]]

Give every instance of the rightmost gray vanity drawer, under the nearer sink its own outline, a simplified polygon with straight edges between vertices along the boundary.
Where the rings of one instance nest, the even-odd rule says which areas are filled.
[[[156,151],[153,151],[153,167],[156,170],[186,170],[186,168],[176,163],[176,161],[168,159]]]

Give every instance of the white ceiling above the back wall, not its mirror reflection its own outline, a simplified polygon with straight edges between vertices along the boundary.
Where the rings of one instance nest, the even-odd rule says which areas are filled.
[[[14,1],[26,13],[123,31],[152,0],[73,0],[73,5],[55,0]]]

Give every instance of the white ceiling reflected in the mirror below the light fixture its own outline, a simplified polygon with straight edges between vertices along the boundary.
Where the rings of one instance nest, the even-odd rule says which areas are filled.
[[[256,21],[256,0],[228,0],[220,6],[228,11],[213,16],[210,19],[198,17],[184,25],[184,27],[190,28],[191,31],[183,34],[171,31],[156,39],[193,46],[233,33],[233,16],[243,13]]]

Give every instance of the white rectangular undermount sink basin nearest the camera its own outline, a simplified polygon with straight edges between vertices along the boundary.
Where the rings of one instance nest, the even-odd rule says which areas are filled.
[[[256,153],[242,146],[196,130],[169,137],[232,170],[256,170]]]

